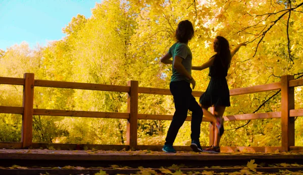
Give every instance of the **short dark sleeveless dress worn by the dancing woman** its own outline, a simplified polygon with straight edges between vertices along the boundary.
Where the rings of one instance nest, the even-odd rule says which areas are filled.
[[[226,81],[228,67],[224,67],[221,57],[216,54],[213,65],[210,67],[211,81],[199,102],[204,106],[230,106],[229,88]],[[213,57],[214,57],[213,56]]]

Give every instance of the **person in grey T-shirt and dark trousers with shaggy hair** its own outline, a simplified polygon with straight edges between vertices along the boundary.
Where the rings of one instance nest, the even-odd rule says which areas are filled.
[[[180,127],[187,118],[188,109],[192,111],[191,118],[191,145],[193,151],[202,152],[200,146],[200,125],[203,111],[195,98],[191,95],[190,84],[194,89],[195,81],[191,76],[192,54],[188,47],[188,41],[193,37],[193,27],[190,21],[181,21],[176,30],[177,42],[174,43],[168,53],[161,58],[161,63],[172,64],[173,74],[170,82],[170,91],[174,97],[175,113],[169,126],[163,151],[174,153],[176,150],[173,143],[177,137]],[[170,60],[170,58],[173,60]]]

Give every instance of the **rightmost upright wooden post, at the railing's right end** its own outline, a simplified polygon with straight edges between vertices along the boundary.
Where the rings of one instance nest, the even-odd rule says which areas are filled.
[[[281,77],[281,151],[289,151],[289,146],[294,146],[294,118],[289,117],[289,110],[294,109],[294,88],[288,87],[293,75]]]

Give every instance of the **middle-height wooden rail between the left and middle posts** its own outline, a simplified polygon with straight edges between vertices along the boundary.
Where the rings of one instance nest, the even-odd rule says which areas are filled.
[[[110,119],[128,119],[129,113],[122,112],[97,112],[80,110],[57,110],[57,109],[34,109],[34,115],[50,116],[81,116],[84,118],[110,118]]]

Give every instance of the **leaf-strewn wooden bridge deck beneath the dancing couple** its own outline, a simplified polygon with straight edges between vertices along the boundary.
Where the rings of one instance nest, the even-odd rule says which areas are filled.
[[[262,172],[291,170],[302,172],[303,153],[195,153],[161,151],[104,151],[104,150],[47,150],[2,149],[0,150],[0,174],[94,174],[100,170],[108,174],[134,174],[142,170],[235,172],[244,169],[254,159],[263,164],[256,169]],[[271,167],[270,163],[297,166]],[[173,164],[180,168],[172,167]],[[266,166],[264,167],[264,165]],[[141,167],[141,168],[140,168]],[[145,169],[146,170],[146,169]],[[161,174],[161,173],[160,173]],[[216,174],[216,173],[215,173]]]

